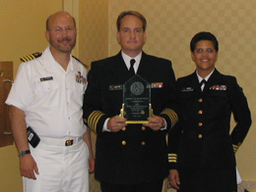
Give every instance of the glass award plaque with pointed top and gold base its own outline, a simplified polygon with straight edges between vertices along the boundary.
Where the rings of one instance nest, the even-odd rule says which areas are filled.
[[[136,74],[123,84],[121,118],[125,123],[148,123],[153,117],[151,84]]]

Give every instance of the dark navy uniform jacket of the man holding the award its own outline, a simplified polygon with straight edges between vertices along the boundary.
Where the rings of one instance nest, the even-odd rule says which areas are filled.
[[[175,77],[168,60],[143,52],[137,74],[152,85],[154,114],[164,118],[169,129],[177,121]],[[159,180],[168,174],[166,130],[154,131],[142,124],[128,124],[118,132],[102,131],[107,118],[120,114],[122,85],[131,75],[121,52],[93,62],[84,98],[84,119],[95,130],[96,179],[116,184]]]

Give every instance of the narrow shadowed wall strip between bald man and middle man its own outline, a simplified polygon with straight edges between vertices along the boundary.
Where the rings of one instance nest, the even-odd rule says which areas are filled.
[[[79,58],[90,66],[108,54],[108,1],[80,0],[79,12]]]

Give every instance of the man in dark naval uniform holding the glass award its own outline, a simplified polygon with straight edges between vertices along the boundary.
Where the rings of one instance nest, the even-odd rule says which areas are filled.
[[[93,62],[88,75],[84,120],[97,134],[95,175],[103,192],[160,192],[168,174],[165,135],[178,119],[175,77],[170,61],[142,51],[146,24],[138,12],[121,13],[117,19],[121,51]],[[149,123],[127,124],[119,117],[123,84],[134,73],[152,87],[155,117]]]

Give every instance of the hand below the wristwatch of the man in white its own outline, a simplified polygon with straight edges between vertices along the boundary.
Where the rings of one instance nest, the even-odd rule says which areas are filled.
[[[38,168],[31,154],[20,158],[20,169],[22,176],[36,179],[35,174],[39,174]]]

